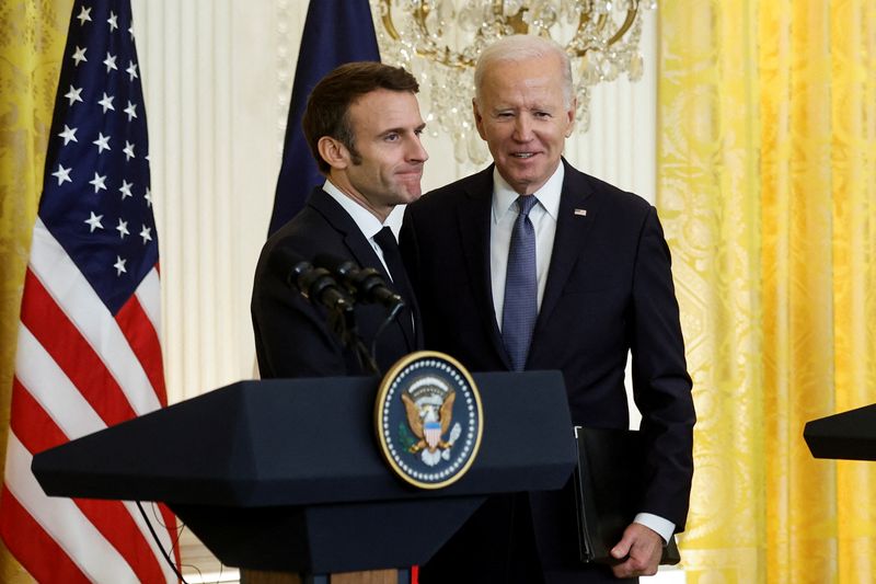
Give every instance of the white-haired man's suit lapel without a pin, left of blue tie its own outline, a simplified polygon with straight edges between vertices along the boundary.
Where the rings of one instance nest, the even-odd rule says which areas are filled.
[[[487,337],[506,367],[510,360],[496,324],[493,304],[493,285],[489,267],[489,230],[493,205],[493,164],[473,176],[465,187],[463,204],[457,209],[460,241],[465,255],[465,270],[472,284],[477,318],[485,328]]]

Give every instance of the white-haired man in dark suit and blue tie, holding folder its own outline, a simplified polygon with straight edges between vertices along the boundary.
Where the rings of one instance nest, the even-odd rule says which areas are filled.
[[[614,428],[629,426],[624,367],[632,352],[649,446],[641,513],[612,549],[616,565],[578,560],[567,486],[492,497],[420,581],[653,574],[666,540],[684,528],[695,419],[656,210],[563,160],[576,103],[562,47],[506,37],[482,54],[475,87],[476,127],[495,164],[408,206],[402,229],[426,346],[475,371],[560,369],[573,423]]]

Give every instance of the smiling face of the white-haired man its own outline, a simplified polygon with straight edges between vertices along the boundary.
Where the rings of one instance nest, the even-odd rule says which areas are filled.
[[[541,188],[560,164],[575,122],[563,100],[560,58],[495,61],[485,71],[474,119],[496,168],[521,195]]]

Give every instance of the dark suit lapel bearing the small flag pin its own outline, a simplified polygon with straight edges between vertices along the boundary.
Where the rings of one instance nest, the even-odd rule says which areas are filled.
[[[544,344],[539,342],[539,337],[548,334],[546,322],[551,312],[556,308],[581,250],[585,249],[590,227],[597,220],[599,210],[598,199],[591,196],[592,188],[587,183],[585,175],[566,163],[565,159],[563,163],[566,168],[556,218],[556,234],[551,253],[551,266],[548,270],[544,297],[530,345],[532,351],[538,351],[538,347]],[[528,360],[532,363],[532,352]]]

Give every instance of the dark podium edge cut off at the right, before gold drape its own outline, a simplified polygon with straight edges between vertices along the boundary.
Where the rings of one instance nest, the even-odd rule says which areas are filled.
[[[876,403],[807,422],[803,437],[816,458],[876,460]]]

